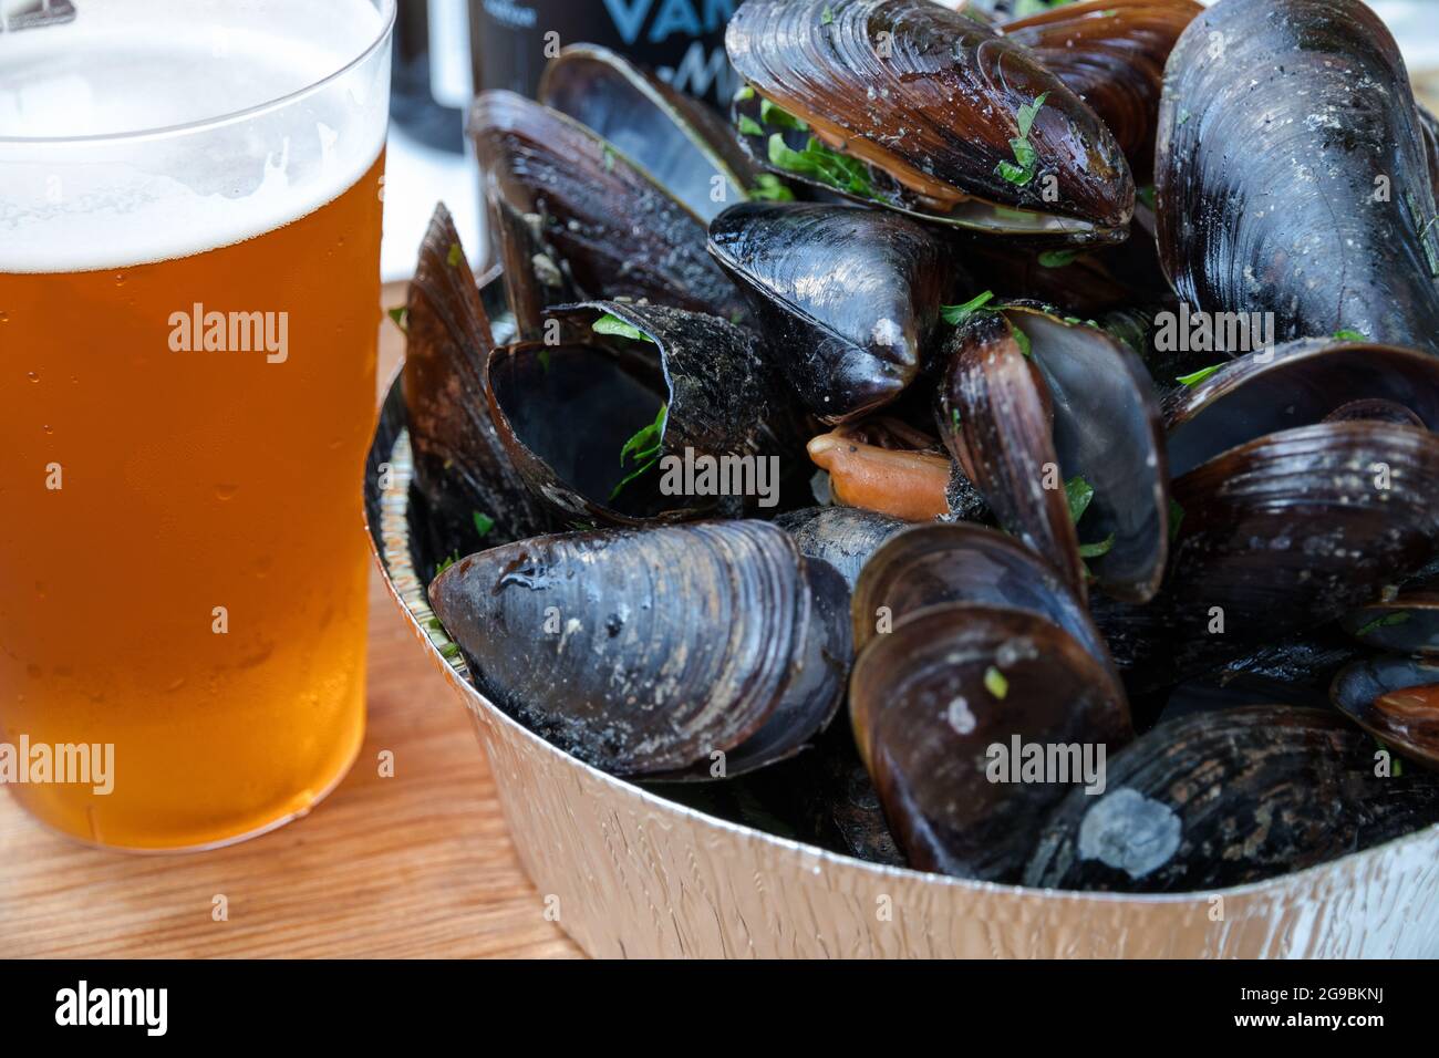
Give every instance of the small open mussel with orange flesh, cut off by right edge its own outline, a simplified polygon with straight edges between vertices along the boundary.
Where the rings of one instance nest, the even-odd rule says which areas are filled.
[[[1334,677],[1335,707],[1406,757],[1439,767],[1439,661],[1397,655],[1360,661]]]

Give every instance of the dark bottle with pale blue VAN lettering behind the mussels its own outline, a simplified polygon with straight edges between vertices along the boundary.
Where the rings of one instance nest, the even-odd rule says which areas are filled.
[[[469,0],[479,89],[534,96],[566,45],[603,45],[682,92],[728,109],[735,75],[724,29],[740,0]]]

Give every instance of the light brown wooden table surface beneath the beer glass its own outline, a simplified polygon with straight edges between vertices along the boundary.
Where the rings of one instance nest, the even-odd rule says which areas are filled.
[[[386,305],[403,299],[386,288]],[[381,335],[383,383],[403,343],[389,320]],[[212,918],[217,894],[227,921]],[[0,795],[0,957],[578,954],[545,921],[463,707],[378,573],[364,749],[305,819],[216,852],[134,856],[53,836]]]

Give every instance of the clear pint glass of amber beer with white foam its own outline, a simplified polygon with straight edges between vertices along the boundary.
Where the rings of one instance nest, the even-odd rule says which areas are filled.
[[[393,0],[0,0],[0,782],[197,849],[364,736]]]

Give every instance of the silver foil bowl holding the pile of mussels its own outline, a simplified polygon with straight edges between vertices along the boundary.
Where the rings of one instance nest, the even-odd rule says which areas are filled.
[[[1056,892],[866,864],[597,772],[495,708],[463,661],[440,652],[412,548],[410,471],[396,377],[366,471],[376,557],[420,648],[473,720],[525,871],[591,956],[1439,954],[1439,826],[1256,885]]]

